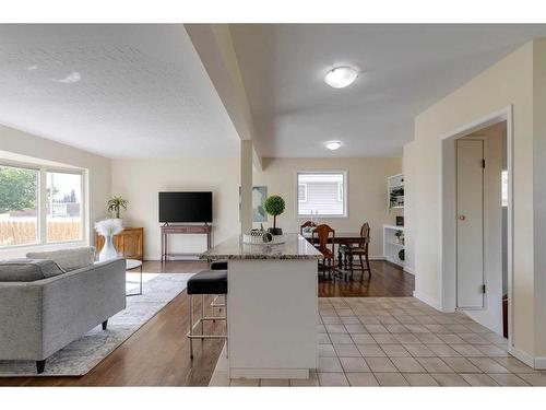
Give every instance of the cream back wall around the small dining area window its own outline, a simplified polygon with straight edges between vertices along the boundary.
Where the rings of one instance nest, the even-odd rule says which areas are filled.
[[[394,224],[394,215],[387,209],[387,177],[402,172],[401,159],[263,159],[263,171],[254,169],[253,185],[268,186],[268,195],[281,195],[286,201],[285,212],[277,218],[277,226],[285,232],[299,232],[307,219],[296,216],[296,173],[311,169],[347,172],[348,218],[320,219],[333,229],[356,232],[365,221],[371,225],[370,256],[383,255],[383,223]],[[264,226],[273,224],[272,218]],[[254,224],[256,225],[256,224]]]

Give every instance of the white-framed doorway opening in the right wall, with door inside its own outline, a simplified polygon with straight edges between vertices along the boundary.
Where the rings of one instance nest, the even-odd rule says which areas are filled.
[[[440,164],[441,308],[511,345],[511,108],[442,138]]]

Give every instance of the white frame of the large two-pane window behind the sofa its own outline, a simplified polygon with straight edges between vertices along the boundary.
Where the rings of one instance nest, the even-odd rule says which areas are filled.
[[[55,246],[59,244],[82,244],[86,243],[87,232],[87,178],[85,177],[85,169],[83,168],[69,168],[55,165],[43,165],[34,163],[25,163],[19,161],[11,161],[0,159],[0,166],[11,166],[15,168],[32,169],[38,173],[37,186],[37,227],[36,227],[36,242],[32,244],[0,246],[0,250],[17,249],[17,248],[36,248],[43,246]],[[70,241],[47,241],[47,173],[62,173],[79,175],[81,178],[81,226],[80,238]]]

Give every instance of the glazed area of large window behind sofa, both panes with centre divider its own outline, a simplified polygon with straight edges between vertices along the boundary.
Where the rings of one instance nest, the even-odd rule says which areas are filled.
[[[83,239],[83,175],[0,165],[0,248]]]

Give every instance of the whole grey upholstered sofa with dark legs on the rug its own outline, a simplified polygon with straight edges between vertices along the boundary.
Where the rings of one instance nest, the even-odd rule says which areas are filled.
[[[126,260],[88,255],[93,248],[0,261],[0,360],[33,360],[41,373],[48,356],[124,309]]]

